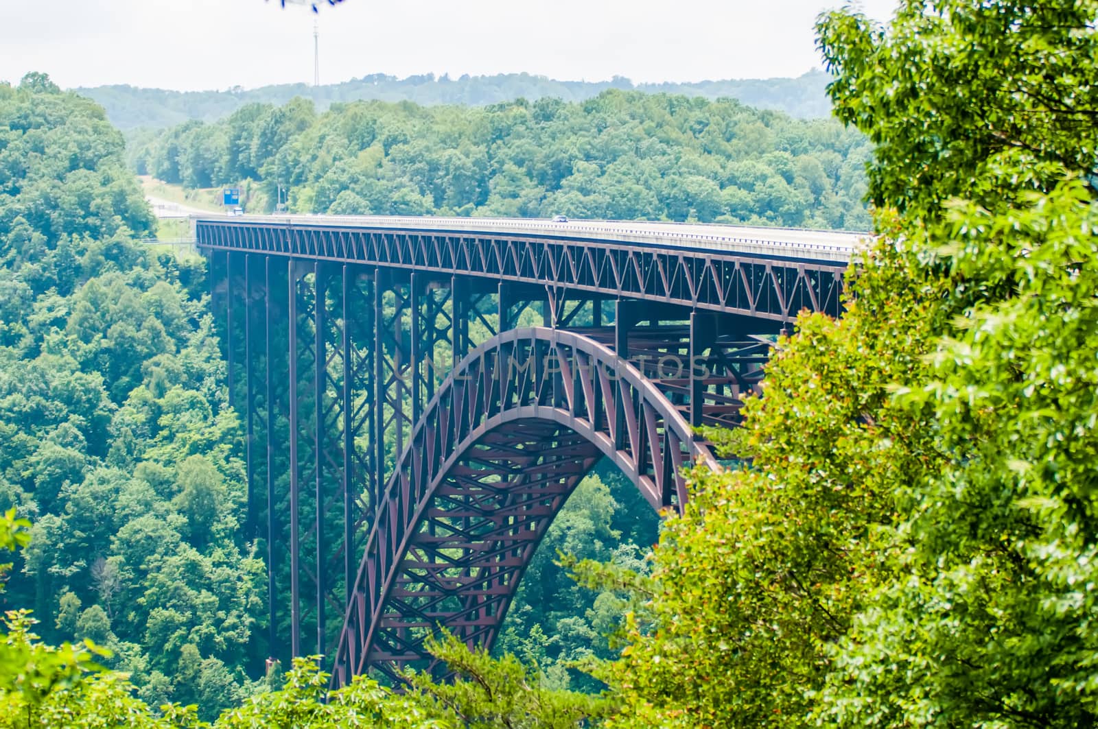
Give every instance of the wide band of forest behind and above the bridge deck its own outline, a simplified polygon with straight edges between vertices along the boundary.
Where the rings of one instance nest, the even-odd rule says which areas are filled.
[[[736,101],[606,91],[488,108],[249,104],[133,139],[189,188],[242,183],[255,212],[671,220],[867,229],[869,141]],[[288,191],[288,194],[287,192]]]

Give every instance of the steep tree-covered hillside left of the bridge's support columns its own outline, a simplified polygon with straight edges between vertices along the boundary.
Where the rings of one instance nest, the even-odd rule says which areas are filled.
[[[202,261],[135,242],[155,221],[123,148],[47,78],[0,86],[0,511],[34,523],[3,601],[110,648],[149,703],[215,709],[266,654],[265,569]]]

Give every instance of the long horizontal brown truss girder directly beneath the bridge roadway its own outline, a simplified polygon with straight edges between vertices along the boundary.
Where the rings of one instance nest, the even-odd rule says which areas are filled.
[[[195,235],[206,250],[536,283],[780,322],[806,309],[838,316],[845,270],[834,262],[705,248],[503,234],[199,221]]]

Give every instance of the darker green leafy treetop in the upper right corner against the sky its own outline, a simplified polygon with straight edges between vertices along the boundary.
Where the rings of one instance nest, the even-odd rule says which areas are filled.
[[[836,115],[875,144],[871,197],[919,216],[1096,171],[1095,3],[905,0],[887,29],[837,12],[818,25]],[[996,166],[1009,160],[999,173]],[[1015,178],[1018,168],[1024,177]]]

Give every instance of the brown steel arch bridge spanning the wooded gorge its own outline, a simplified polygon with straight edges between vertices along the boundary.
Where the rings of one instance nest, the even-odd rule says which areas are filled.
[[[195,235],[271,654],[328,654],[336,685],[434,668],[439,626],[491,646],[598,460],[681,508],[682,467],[716,467],[693,428],[739,422],[768,335],[839,315],[859,238],[344,216],[202,217]]]

